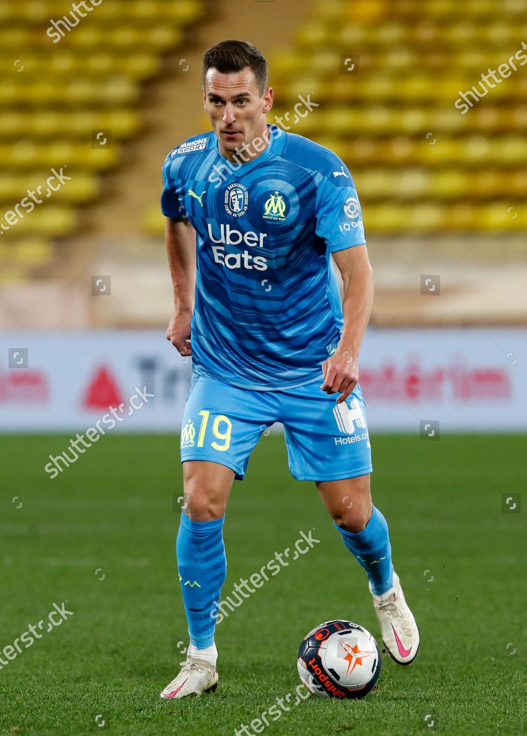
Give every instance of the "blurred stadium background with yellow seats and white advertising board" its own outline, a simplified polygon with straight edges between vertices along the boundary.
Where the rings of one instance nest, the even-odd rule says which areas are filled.
[[[162,346],[171,286],[160,166],[175,145],[208,130],[202,52],[233,37],[268,57],[269,122],[329,146],[356,180],[376,288],[361,382],[367,396],[377,384],[372,399],[387,403],[373,407],[372,428],[394,411],[390,428],[447,413],[455,420],[460,401],[453,426],[525,428],[517,394],[527,322],[523,0],[85,7],[0,4],[1,426],[74,426],[90,407],[104,408],[105,391],[116,398],[119,381],[127,392],[144,375],[163,375],[166,396],[181,375],[183,394],[189,367]],[[516,71],[470,97],[487,68],[514,64],[514,54]],[[474,102],[462,114],[455,103],[467,92]],[[316,107],[307,112],[302,101]],[[33,204],[26,195],[46,191],[54,172],[68,179]],[[145,328],[144,339],[127,331]],[[26,357],[20,347],[30,347]],[[397,383],[397,395],[388,397],[381,376]],[[489,392],[491,422],[470,414],[474,392]],[[409,402],[406,422],[395,398]],[[135,428],[175,428],[181,397],[174,401],[164,424],[152,409]]]

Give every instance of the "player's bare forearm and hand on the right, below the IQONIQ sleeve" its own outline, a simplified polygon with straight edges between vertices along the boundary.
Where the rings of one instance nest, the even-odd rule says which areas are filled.
[[[339,250],[333,258],[344,283],[344,327],[335,353],[322,364],[321,389],[341,392],[336,401],[342,403],[358,383],[358,353],[372,314],[373,278],[366,245]]]

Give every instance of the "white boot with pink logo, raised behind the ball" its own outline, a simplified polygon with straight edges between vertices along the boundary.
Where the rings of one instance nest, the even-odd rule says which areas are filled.
[[[371,583],[369,592],[373,596],[373,606],[388,654],[397,664],[409,665],[417,657],[420,637],[414,615],[404,599],[399,576],[394,573],[393,586],[383,595],[375,595]]]

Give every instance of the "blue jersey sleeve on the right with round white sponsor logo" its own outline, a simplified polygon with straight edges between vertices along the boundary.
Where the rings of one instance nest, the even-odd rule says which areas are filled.
[[[334,182],[330,177],[323,177],[316,197],[316,235],[332,253],[366,243],[353,179],[344,164],[341,171],[342,174],[336,172],[339,175]]]

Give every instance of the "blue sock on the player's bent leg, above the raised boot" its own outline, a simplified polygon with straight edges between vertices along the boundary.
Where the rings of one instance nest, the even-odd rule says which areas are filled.
[[[333,522],[335,523],[335,522]],[[367,572],[375,595],[382,595],[393,585],[392,545],[388,536],[388,525],[383,514],[373,506],[372,516],[362,531],[353,534],[341,529],[342,539],[350,552]]]

